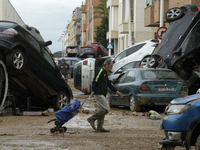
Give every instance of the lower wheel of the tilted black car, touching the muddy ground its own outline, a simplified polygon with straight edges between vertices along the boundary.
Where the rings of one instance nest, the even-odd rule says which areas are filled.
[[[55,98],[55,109],[62,109],[65,105],[70,102],[66,92],[60,92]]]

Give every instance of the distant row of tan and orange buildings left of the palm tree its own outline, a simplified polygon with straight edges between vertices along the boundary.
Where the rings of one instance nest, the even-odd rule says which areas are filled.
[[[100,18],[92,19],[94,6],[99,4],[99,0],[85,0],[81,7],[77,7],[72,14],[72,18],[67,25],[65,32],[64,47],[71,47],[68,52],[75,52],[77,48],[87,44],[95,43],[95,26],[101,22]],[[73,49],[73,47],[75,47]]]

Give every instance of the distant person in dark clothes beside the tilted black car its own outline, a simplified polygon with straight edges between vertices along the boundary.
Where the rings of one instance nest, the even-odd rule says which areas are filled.
[[[68,82],[68,75],[71,74],[70,66],[65,62],[64,58],[61,60],[61,62],[62,64],[59,65],[60,73],[64,76],[65,81]]]

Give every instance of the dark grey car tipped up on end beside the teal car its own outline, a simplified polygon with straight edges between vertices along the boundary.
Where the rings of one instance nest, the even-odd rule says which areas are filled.
[[[194,94],[200,87],[200,7],[184,5],[165,14],[170,23],[157,50],[141,61],[142,67],[175,71]]]

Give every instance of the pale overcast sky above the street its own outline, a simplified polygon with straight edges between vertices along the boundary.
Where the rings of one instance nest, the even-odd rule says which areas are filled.
[[[85,0],[9,0],[25,24],[35,27],[45,41],[51,40],[52,53],[62,49],[62,40],[68,20],[76,7]]]

